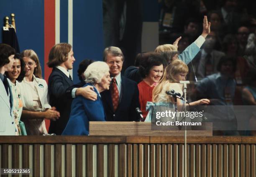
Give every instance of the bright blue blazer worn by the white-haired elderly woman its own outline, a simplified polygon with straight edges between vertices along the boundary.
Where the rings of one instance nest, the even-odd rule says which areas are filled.
[[[86,84],[84,87],[91,84]],[[96,88],[95,88],[95,92]],[[71,113],[62,135],[89,135],[89,121],[105,121],[104,107],[97,93],[97,100],[76,97],[71,105]]]

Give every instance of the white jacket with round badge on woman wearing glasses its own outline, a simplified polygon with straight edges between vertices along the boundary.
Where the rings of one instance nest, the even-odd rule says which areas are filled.
[[[46,81],[44,79],[40,79],[33,75],[33,83],[36,86],[36,90],[39,95],[39,99],[42,105],[42,111],[44,111],[45,109],[51,108],[51,106],[49,105],[48,85]],[[23,109],[34,111],[33,97],[32,97],[32,94],[27,90],[29,86],[28,86],[28,83],[26,83],[25,77],[23,81],[20,82],[19,86],[20,86],[21,100],[23,102]]]

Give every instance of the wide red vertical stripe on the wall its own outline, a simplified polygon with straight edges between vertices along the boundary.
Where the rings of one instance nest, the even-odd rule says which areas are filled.
[[[55,0],[44,0],[44,79],[48,83],[51,68],[48,62],[51,47],[55,45]],[[49,129],[50,121],[46,120],[46,128]]]

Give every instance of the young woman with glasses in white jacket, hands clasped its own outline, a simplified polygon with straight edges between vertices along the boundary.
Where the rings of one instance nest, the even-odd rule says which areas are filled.
[[[44,119],[56,120],[59,112],[49,105],[48,86],[41,76],[41,66],[36,52],[24,50],[25,77],[20,83],[23,111],[21,119],[25,123],[28,135],[47,134]]]

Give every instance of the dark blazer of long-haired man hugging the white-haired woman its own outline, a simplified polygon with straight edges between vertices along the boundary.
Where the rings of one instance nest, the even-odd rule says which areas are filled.
[[[73,81],[67,75],[58,68],[53,68],[48,80],[49,103],[60,112],[60,117],[56,121],[51,120],[49,133],[61,135],[67,125],[72,98],[66,96],[66,90],[72,85]]]

